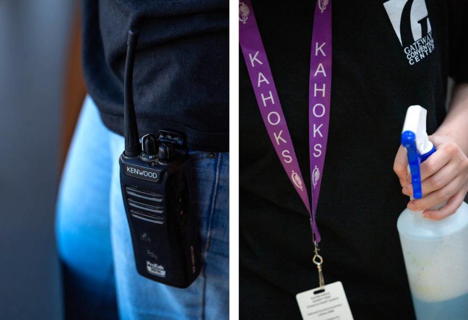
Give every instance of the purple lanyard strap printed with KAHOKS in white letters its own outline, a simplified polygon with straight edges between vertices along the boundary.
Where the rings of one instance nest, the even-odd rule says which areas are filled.
[[[320,234],[315,222],[315,214],[330,122],[331,0],[317,0],[313,18],[309,82],[312,210],[250,0],[239,1],[239,42],[263,122],[292,186],[311,215],[312,233],[314,240],[318,243]]]

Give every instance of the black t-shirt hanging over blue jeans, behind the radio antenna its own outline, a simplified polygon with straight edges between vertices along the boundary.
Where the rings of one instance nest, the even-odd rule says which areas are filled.
[[[83,0],[83,69],[104,124],[123,132],[129,28],[137,27],[134,100],[140,136],[160,129],[190,148],[228,150],[228,1]]]

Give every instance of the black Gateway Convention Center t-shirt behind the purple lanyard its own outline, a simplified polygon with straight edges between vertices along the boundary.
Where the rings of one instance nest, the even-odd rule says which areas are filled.
[[[253,2],[310,192],[316,1]],[[407,108],[427,108],[430,134],[446,115],[448,75],[468,81],[467,1],[384,2],[332,2],[330,131],[317,225],[325,281],[342,281],[357,320],[414,318],[396,229],[409,199],[393,160]],[[309,214],[273,149],[240,59],[240,318],[301,319],[295,295],[318,286]]]

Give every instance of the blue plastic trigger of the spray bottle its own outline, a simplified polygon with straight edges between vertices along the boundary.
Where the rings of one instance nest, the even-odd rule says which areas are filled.
[[[435,147],[432,146],[432,149],[423,155],[419,154],[418,148],[416,147],[416,134],[412,131],[404,131],[401,134],[401,144],[408,151],[408,164],[409,171],[411,172],[411,184],[413,185],[413,197],[415,199],[420,199],[423,196],[421,190],[420,165],[435,152]]]

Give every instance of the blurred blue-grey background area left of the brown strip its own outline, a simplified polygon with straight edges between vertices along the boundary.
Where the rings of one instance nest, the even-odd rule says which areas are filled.
[[[54,237],[72,0],[0,0],[0,319],[61,319]]]

